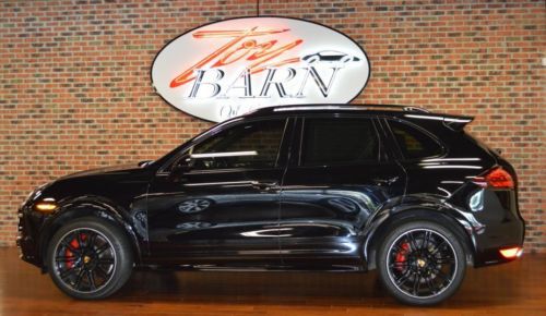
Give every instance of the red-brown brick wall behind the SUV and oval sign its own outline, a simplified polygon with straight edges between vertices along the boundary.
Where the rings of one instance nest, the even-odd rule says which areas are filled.
[[[360,42],[372,73],[355,102],[475,116],[471,130],[518,170],[526,246],[546,252],[542,202],[546,10],[538,1],[262,1]],[[513,3],[512,3],[513,2]],[[1,1],[0,243],[36,185],[155,158],[210,123],[166,105],[150,65],[166,41],[253,1]]]

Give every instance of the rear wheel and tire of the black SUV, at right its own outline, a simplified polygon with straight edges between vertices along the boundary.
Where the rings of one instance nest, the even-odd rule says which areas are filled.
[[[453,295],[466,271],[458,236],[425,220],[394,226],[378,250],[377,266],[382,284],[396,300],[419,306]]]

